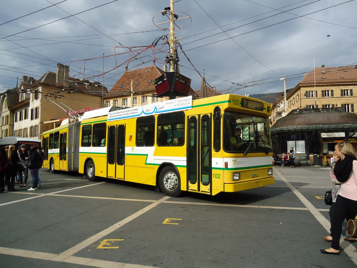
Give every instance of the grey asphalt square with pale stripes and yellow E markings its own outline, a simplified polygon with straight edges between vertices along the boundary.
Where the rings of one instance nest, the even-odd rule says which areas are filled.
[[[356,267],[342,236],[340,255],[320,253],[329,168],[273,170],[266,187],[174,198],[41,169],[38,190],[0,194],[0,267]]]

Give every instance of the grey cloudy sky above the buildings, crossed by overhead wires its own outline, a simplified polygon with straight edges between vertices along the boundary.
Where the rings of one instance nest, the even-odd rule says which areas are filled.
[[[56,63],[69,65],[70,76],[104,81],[109,89],[126,65],[132,70],[156,59],[162,68],[169,46],[162,40],[151,45],[169,34],[168,24],[154,25],[166,21],[160,11],[169,6],[170,0],[6,1],[0,91],[14,88],[22,75],[56,72]],[[183,29],[175,26],[175,32],[184,51],[178,49],[180,73],[195,90],[203,69],[217,91],[244,95],[283,91],[283,75],[292,88],[314,63],[357,63],[354,0],[180,0],[175,10],[179,18],[190,16],[176,21]]]

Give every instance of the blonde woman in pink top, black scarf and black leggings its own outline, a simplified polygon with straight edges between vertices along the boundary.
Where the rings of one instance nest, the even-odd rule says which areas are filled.
[[[357,215],[357,157],[349,142],[336,144],[334,153],[341,158],[333,169],[336,179],[341,182],[341,187],[333,210],[331,248],[320,249],[320,251],[324,254],[339,255],[342,223],[345,219],[354,219]]]

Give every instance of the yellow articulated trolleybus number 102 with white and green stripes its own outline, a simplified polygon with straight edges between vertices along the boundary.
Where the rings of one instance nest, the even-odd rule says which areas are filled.
[[[44,168],[215,195],[274,183],[270,104],[227,94],[86,112],[42,134]]]

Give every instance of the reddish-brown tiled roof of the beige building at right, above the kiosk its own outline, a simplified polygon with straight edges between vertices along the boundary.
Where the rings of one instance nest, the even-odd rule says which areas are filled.
[[[321,67],[312,70],[300,84],[331,84],[357,82],[357,69],[355,66],[347,67]]]

